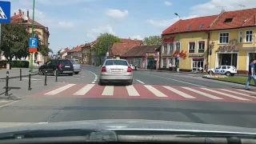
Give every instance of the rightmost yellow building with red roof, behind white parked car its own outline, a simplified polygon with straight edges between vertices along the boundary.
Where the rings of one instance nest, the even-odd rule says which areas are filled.
[[[256,9],[223,12],[210,27],[209,67],[235,66],[238,74],[247,74],[255,54],[254,20]]]

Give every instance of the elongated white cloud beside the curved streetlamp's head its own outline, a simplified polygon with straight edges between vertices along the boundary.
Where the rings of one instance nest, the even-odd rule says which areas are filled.
[[[183,17],[182,19],[189,19],[189,18],[196,18],[197,15],[190,15],[189,17]],[[148,19],[146,22],[150,23],[153,26],[160,26],[160,27],[168,27],[174,22],[178,21],[178,17],[172,18],[172,19],[164,19],[164,20],[153,20],[153,19]]]

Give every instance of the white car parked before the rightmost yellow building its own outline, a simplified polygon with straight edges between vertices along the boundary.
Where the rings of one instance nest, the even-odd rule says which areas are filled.
[[[226,74],[226,76],[234,76],[237,74],[237,68],[234,66],[218,66],[215,69],[208,69],[208,74]]]

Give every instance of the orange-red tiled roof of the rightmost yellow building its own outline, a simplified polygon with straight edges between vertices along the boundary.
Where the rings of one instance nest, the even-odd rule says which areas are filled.
[[[246,10],[224,11],[214,22],[210,30],[225,30],[246,26],[255,26],[256,8]],[[228,19],[230,18],[230,19]],[[231,21],[231,22],[225,22]]]

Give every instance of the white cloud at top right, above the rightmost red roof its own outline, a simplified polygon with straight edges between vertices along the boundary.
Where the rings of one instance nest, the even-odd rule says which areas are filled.
[[[224,7],[221,7],[224,6]],[[209,2],[202,3],[191,7],[191,14],[197,14],[199,16],[220,14],[221,10],[242,10],[256,7],[255,0],[210,0]]]

